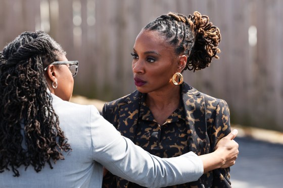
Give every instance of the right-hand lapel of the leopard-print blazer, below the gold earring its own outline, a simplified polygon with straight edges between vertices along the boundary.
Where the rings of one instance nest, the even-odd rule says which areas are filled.
[[[195,88],[183,84],[182,99],[186,113],[188,147],[197,155],[203,155],[208,152],[204,97]]]

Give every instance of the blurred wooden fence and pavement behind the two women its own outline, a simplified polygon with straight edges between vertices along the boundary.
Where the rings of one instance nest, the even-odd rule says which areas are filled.
[[[130,52],[141,28],[168,12],[188,15],[194,11],[209,16],[220,28],[221,53],[209,68],[185,71],[184,80],[226,100],[231,123],[245,136],[238,140],[240,153],[244,153],[242,159],[239,156],[240,164],[233,167],[239,168],[234,170],[233,187],[281,187],[270,183],[283,177],[281,0],[0,0],[0,47],[2,50],[23,31],[49,33],[67,51],[69,60],[79,60],[74,99],[80,96],[99,108],[103,101],[135,90]],[[251,137],[268,143],[263,142],[266,147],[259,142],[249,145],[254,141]],[[274,150],[267,151],[270,148]],[[275,156],[278,171],[269,172],[266,166],[271,164],[264,166],[260,161],[249,166],[259,156],[265,161]],[[266,173],[247,183],[247,174],[259,170]],[[270,182],[263,178],[268,174],[274,178]]]

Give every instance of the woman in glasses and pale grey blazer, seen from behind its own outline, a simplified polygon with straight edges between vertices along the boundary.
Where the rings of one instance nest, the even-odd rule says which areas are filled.
[[[140,149],[94,106],[69,102],[77,70],[42,31],[24,32],[0,52],[0,187],[101,187],[102,165],[143,186],[168,186],[234,163],[232,134],[202,157],[161,159]]]

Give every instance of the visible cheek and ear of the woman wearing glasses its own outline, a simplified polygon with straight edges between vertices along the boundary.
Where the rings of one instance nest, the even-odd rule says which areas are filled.
[[[59,60],[67,61],[68,59],[63,54]],[[50,65],[45,74],[51,93],[65,101],[70,101],[74,88],[74,79],[68,66],[69,65]],[[56,87],[56,81],[58,87],[53,88],[52,83],[54,82],[54,86]]]

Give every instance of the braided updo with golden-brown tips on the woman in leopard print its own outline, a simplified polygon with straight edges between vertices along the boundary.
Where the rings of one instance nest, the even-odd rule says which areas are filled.
[[[187,56],[184,70],[205,69],[213,57],[219,58],[218,44],[221,40],[219,29],[209,22],[207,16],[199,12],[188,17],[168,13],[144,27],[144,30],[157,31],[175,48],[176,54]]]

